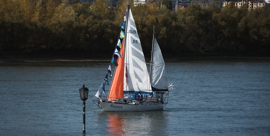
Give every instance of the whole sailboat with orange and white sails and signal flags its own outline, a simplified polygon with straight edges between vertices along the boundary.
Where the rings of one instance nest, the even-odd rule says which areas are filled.
[[[125,22],[126,25],[124,25]],[[108,96],[105,94],[105,84],[108,82],[108,74],[111,74],[111,64],[99,88],[102,93],[98,90],[92,101],[102,111],[162,110],[163,106],[168,103],[171,87],[167,85],[165,63],[155,34],[153,34],[150,74],[148,74],[138,31],[129,5],[121,26],[120,38],[111,61],[111,64],[115,64],[116,67],[109,94]],[[117,61],[115,61],[116,55],[118,56]],[[169,90],[168,87],[170,87]],[[102,98],[103,94],[104,98]]]

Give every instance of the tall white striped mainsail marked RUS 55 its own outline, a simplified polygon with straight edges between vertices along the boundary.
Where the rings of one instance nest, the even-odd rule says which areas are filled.
[[[126,33],[124,90],[152,92],[137,28],[129,10]],[[127,71],[127,73],[126,73]]]

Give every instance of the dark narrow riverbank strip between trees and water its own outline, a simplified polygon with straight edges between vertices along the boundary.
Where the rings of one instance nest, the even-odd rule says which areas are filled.
[[[50,54],[50,55],[24,55],[18,52],[0,51],[0,62],[50,62],[50,61],[89,61],[108,62],[109,55],[79,55],[79,54]],[[265,55],[217,55],[217,54],[172,54],[163,56],[165,61],[177,60],[205,60],[205,59],[270,59]],[[146,60],[150,60],[146,57]]]

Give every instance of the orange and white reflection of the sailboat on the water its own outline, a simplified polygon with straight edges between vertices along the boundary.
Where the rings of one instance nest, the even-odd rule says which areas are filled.
[[[147,112],[101,112],[107,116],[105,133],[109,135],[165,135],[166,116],[163,111]],[[158,129],[156,129],[158,128]]]

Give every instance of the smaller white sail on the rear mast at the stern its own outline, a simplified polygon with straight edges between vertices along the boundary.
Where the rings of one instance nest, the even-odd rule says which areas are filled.
[[[167,91],[168,82],[165,70],[165,63],[158,46],[156,38],[154,38],[152,66],[151,66],[151,87],[153,91]]]

